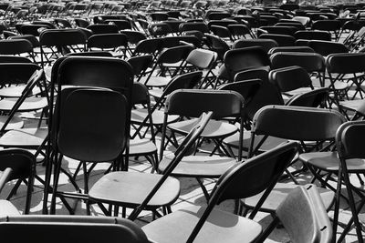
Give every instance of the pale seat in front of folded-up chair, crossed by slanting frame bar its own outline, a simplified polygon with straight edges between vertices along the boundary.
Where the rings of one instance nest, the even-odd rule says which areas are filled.
[[[162,175],[139,172],[111,172],[89,190],[90,199],[124,207],[139,206]],[[171,205],[180,195],[180,182],[168,177],[148,203],[147,208]]]

